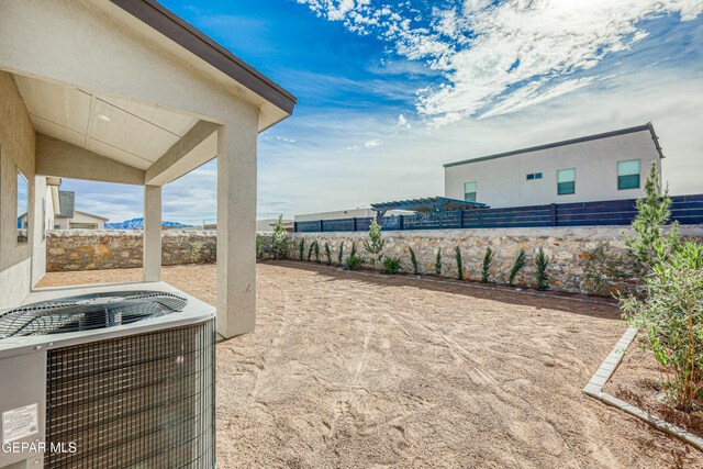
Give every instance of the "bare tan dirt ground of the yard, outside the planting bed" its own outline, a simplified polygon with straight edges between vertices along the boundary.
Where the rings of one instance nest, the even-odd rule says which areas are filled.
[[[214,302],[214,266],[164,280]],[[257,289],[256,333],[217,346],[219,467],[703,467],[581,391],[625,331],[613,306],[293,263]]]

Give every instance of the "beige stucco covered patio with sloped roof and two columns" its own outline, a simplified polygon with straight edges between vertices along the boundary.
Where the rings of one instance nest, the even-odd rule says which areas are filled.
[[[46,177],[143,186],[144,281],[157,282],[161,187],[217,157],[217,331],[252,332],[257,135],[294,104],[154,0],[0,2],[0,309],[44,273]],[[26,244],[18,171],[30,181]]]

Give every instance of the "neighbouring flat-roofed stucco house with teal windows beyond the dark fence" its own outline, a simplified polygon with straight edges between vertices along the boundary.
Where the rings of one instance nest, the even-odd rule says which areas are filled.
[[[445,196],[492,208],[635,199],[661,158],[649,123],[446,164]]]

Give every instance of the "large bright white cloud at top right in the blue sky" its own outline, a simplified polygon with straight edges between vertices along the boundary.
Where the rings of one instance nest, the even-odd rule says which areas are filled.
[[[417,100],[417,111],[436,124],[496,116],[582,88],[589,78],[570,77],[646,37],[643,20],[678,14],[691,21],[703,13],[701,0],[466,0],[428,13],[409,2],[297,1],[440,71],[446,82]]]

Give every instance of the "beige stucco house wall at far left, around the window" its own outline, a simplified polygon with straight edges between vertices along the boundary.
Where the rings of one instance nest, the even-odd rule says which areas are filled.
[[[19,304],[31,288],[31,255],[34,236],[30,223],[29,242],[16,242],[16,171],[30,182],[34,193],[35,133],[20,91],[10,74],[0,70],[0,309]],[[29,203],[30,220],[34,208]]]

